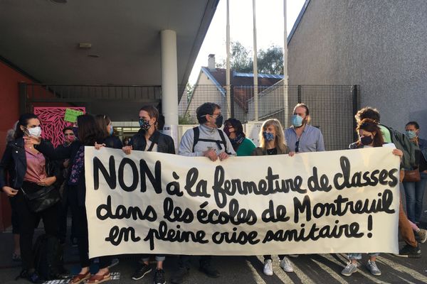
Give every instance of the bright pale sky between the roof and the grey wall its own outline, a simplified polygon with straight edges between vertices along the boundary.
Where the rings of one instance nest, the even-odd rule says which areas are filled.
[[[252,0],[229,0],[230,2],[230,40],[239,41],[248,50],[253,50],[253,13]],[[300,14],[305,0],[288,0],[288,35]],[[216,62],[226,60],[226,0],[220,0],[208,33],[201,45],[199,55],[189,77],[189,83],[195,84],[200,68],[208,65],[208,55],[215,54]],[[257,49],[267,49],[271,45],[283,47],[283,0],[256,0]],[[252,53],[251,53],[251,56]]]

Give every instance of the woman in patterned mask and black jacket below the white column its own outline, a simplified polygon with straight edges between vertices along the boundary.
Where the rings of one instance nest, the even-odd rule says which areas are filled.
[[[130,155],[132,150],[175,154],[174,139],[157,130],[158,119],[159,111],[155,107],[144,106],[139,109],[139,126],[141,129],[130,139],[129,146],[124,146],[122,150],[127,155]],[[132,280],[140,280],[152,271],[152,268],[149,266],[149,258],[149,254],[142,256],[139,261],[142,263],[142,266],[137,268],[135,273],[132,274]],[[154,256],[154,259],[157,261],[156,270],[154,271],[154,284],[166,283],[163,270],[163,262],[166,256],[164,254],[157,254]]]

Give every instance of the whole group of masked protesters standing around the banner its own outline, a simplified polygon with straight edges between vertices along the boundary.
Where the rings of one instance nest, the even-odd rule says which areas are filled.
[[[227,119],[223,121],[221,107],[206,102],[196,110],[199,126],[184,133],[178,154],[186,156],[204,156],[212,161],[226,160],[230,155],[297,155],[302,152],[325,151],[322,132],[310,125],[310,110],[305,104],[297,104],[292,115],[292,126],[283,130],[277,119],[263,122],[259,133],[260,146],[256,147],[243,132],[241,121]],[[420,257],[418,241],[426,241],[426,230],[418,228],[422,212],[423,192],[427,183],[427,141],[419,138],[419,126],[415,121],[406,124],[402,134],[380,124],[379,112],[367,107],[357,112],[357,133],[359,139],[349,148],[381,147],[385,143],[394,143],[396,148],[391,155],[401,158],[402,180],[404,170],[418,171],[420,179],[404,182],[406,192],[406,212],[400,204],[399,229],[406,242],[400,256]],[[23,114],[16,123],[13,138],[9,139],[0,162],[0,188],[8,195],[12,204],[14,234],[19,237],[19,249],[15,249],[14,258],[21,256],[23,271],[21,276],[33,283],[40,279],[34,268],[32,252],[33,233],[40,219],[43,220],[46,234],[57,236],[65,242],[66,217],[70,207],[73,224],[71,239],[76,240],[80,258],[80,272],[70,280],[70,284],[102,283],[110,280],[110,256],[98,259],[99,271],[90,274],[88,258],[88,221],[85,209],[85,146],[95,148],[108,147],[122,149],[127,155],[132,151],[154,151],[175,154],[172,137],[159,131],[159,111],[152,106],[139,109],[140,129],[123,145],[114,135],[112,123],[107,115],[78,116],[73,128],[63,129],[65,141],[54,148],[41,138],[41,121],[34,114]],[[224,126],[223,126],[224,125]],[[223,130],[221,127],[223,126]],[[28,204],[28,196],[46,187],[55,187],[61,195],[61,201],[43,210],[34,210]],[[416,240],[418,237],[418,241]],[[373,275],[381,275],[376,266],[376,256],[369,253],[367,268]],[[157,262],[154,270],[154,283],[166,283],[163,262],[165,255],[142,256],[141,266],[131,276],[139,280],[152,271],[150,257]],[[361,253],[349,253],[349,263],[342,275],[352,275],[358,269],[357,261]],[[172,283],[182,283],[190,271],[191,256],[179,256],[179,268],[172,275]],[[286,255],[279,255],[280,268],[285,272],[293,271],[292,262]],[[211,278],[220,273],[212,264],[211,256],[201,256],[200,271]],[[273,275],[273,258],[264,256],[263,273]]]

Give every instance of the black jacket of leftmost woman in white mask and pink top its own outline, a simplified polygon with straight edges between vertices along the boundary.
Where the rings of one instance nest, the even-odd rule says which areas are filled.
[[[49,142],[50,143],[50,142]],[[46,175],[55,176],[56,182],[53,185],[60,185],[63,177],[60,172],[58,162],[49,160],[46,157]],[[6,173],[9,176],[9,182],[6,180]],[[19,189],[23,183],[23,177],[26,174],[26,153],[23,146],[23,138],[17,138],[7,144],[3,157],[0,162],[0,190],[4,186],[10,186]]]

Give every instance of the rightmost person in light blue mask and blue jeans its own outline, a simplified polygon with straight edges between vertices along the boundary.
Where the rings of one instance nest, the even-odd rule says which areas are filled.
[[[419,224],[423,212],[423,196],[427,185],[427,140],[419,138],[420,126],[416,121],[410,121],[405,126],[405,135],[416,147],[416,160],[421,180],[418,182],[406,182],[404,188],[406,193],[406,212],[408,219]]]

